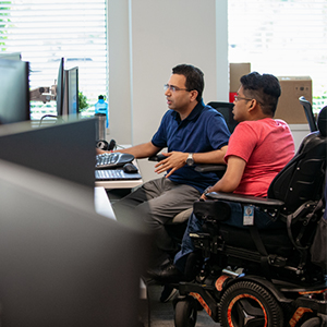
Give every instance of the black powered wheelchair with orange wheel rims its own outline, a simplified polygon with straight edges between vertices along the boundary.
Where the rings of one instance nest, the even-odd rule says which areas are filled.
[[[198,270],[192,281],[173,284],[180,292],[173,303],[175,327],[195,326],[199,306],[222,327],[327,326],[326,264],[311,256],[326,207],[326,117],[327,107],[318,131],[303,140],[266,198],[214,192],[202,211],[194,204],[194,214],[205,221],[203,232],[190,234]],[[215,209],[219,202],[255,206],[283,225],[276,230],[230,227],[221,221],[221,206]]]

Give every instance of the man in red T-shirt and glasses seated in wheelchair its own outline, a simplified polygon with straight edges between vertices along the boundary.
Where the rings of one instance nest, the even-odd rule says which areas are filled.
[[[238,193],[266,196],[276,174],[294,156],[294,142],[288,124],[274,120],[281,89],[278,80],[270,74],[250,73],[241,77],[241,87],[234,99],[234,120],[240,122],[228,144],[225,161],[227,171],[223,177],[206,190],[209,192]],[[205,194],[202,198],[206,199]],[[228,203],[230,218],[222,223],[239,228],[243,225],[243,208],[238,203]],[[280,221],[272,221],[268,215],[254,209],[254,225],[259,229],[278,228]],[[158,271],[149,275],[164,282],[183,279],[183,271],[190,253],[194,251],[190,232],[201,232],[203,221],[194,214],[189,219],[182,249]]]

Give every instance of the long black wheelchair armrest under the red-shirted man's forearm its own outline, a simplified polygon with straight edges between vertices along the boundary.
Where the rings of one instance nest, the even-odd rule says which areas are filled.
[[[268,198],[268,197],[258,197],[258,196],[249,196],[234,193],[222,193],[222,192],[211,192],[207,193],[206,197],[211,199],[222,199],[228,202],[238,202],[241,204],[255,205],[258,207],[281,207],[284,205],[282,201]]]

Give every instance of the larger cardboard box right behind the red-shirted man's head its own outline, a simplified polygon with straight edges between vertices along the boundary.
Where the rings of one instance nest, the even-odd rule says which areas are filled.
[[[303,106],[299,98],[304,96],[312,104],[312,80],[310,76],[279,76],[281,96],[275,118],[289,124],[307,124]]]

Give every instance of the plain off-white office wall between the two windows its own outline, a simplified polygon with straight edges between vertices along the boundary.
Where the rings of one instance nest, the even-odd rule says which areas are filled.
[[[171,68],[205,74],[204,100],[228,100],[227,0],[108,0],[110,135],[148,142],[167,110]],[[145,180],[154,164],[138,160]]]

